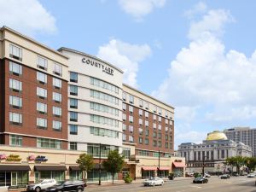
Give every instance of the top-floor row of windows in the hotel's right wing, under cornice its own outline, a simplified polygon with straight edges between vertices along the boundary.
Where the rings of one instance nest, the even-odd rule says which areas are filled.
[[[134,96],[132,96],[132,95],[129,95],[128,93],[125,93],[125,92],[123,92],[123,100],[124,101],[126,101],[126,95],[128,95],[129,96],[129,102],[131,103],[131,104],[134,104]],[[149,102],[146,102],[146,101],[143,101],[142,99],[139,99],[138,98],[138,100],[139,100],[139,107],[140,108],[143,108],[143,107],[145,107],[145,109],[147,109],[147,110],[149,110]],[[123,107],[124,108],[124,107]],[[157,107],[156,105],[154,105],[154,104],[152,104],[152,108],[153,108],[153,112],[154,113],[159,113],[160,115],[162,114],[162,111],[164,111],[164,109],[162,109],[162,108],[160,108],[160,107]],[[166,118],[170,118],[170,119],[172,119],[172,113],[171,112],[168,112],[167,110],[166,110]]]

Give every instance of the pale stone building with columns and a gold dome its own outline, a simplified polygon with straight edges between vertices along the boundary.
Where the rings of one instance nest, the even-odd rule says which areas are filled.
[[[224,132],[212,131],[202,143],[181,143],[178,146],[179,156],[185,157],[186,172],[228,172],[224,161],[232,156],[252,156],[252,148],[244,143],[229,140]]]

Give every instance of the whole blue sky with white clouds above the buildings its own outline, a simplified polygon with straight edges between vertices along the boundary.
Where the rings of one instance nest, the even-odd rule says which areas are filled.
[[[256,1],[0,0],[0,26],[96,55],[175,108],[175,148],[256,127]]]

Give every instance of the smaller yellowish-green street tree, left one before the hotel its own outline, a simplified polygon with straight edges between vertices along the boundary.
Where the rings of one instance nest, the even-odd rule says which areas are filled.
[[[77,164],[79,164],[79,168],[82,171],[82,178],[84,180],[84,183],[86,185],[86,174],[90,170],[93,169],[94,162],[93,157],[90,154],[80,154],[79,159],[77,160]]]

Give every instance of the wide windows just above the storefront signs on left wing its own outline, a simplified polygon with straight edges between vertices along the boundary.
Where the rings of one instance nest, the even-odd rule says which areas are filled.
[[[22,146],[22,136],[18,135],[10,135],[9,137],[9,145],[12,146]],[[48,138],[37,138],[37,147],[38,148],[55,148],[61,149],[62,142],[55,139]]]

